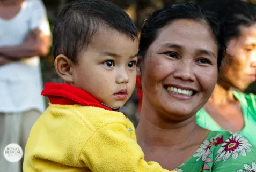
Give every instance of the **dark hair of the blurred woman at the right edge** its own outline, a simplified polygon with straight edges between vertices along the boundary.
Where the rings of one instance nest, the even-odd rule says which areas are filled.
[[[218,15],[227,41],[240,35],[240,26],[252,26],[256,22],[254,6],[241,0],[208,0],[201,6]]]

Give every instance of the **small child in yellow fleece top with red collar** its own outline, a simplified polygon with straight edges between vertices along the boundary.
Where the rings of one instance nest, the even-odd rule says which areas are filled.
[[[53,50],[64,83],[42,91],[50,105],[31,130],[24,171],[169,171],[144,160],[133,124],[118,112],[134,91],[138,60],[126,12],[104,0],[70,3],[56,18]]]

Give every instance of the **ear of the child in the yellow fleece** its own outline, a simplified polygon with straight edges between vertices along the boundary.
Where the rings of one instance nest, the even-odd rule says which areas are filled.
[[[74,81],[73,72],[75,64],[67,56],[63,54],[58,55],[54,61],[54,66],[58,76],[60,76],[64,82],[72,83]]]

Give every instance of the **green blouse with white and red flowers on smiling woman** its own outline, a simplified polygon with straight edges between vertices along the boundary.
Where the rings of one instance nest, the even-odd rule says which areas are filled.
[[[212,131],[177,172],[256,172],[256,147],[242,134]]]

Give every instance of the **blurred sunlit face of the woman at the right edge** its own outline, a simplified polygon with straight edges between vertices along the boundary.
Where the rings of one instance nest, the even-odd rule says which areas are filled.
[[[256,24],[240,27],[240,36],[229,41],[220,68],[220,83],[245,90],[256,80]]]

